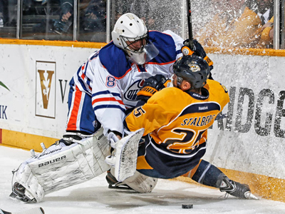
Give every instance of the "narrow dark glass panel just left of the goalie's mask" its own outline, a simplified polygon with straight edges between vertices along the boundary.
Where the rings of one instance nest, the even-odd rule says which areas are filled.
[[[81,1],[78,41],[106,41],[106,0]]]

